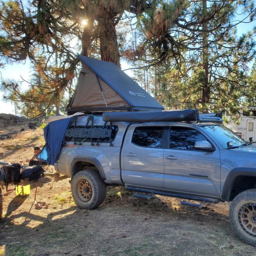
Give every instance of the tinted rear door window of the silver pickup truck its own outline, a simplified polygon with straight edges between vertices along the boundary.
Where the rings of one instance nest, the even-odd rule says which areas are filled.
[[[142,147],[161,148],[163,127],[136,127],[132,135],[132,143]]]

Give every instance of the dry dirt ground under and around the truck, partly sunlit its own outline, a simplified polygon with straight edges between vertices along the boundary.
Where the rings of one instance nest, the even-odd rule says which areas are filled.
[[[7,162],[25,161],[44,144],[41,129],[0,140]],[[52,187],[52,188],[51,188]],[[14,188],[14,186],[10,187]],[[0,255],[256,255],[231,229],[229,203],[203,208],[180,206],[179,199],[138,199],[123,187],[108,187],[95,210],[76,207],[68,179],[39,182],[29,196],[4,195]]]

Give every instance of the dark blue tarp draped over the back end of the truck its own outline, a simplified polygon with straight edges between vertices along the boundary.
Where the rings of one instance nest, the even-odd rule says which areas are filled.
[[[72,116],[49,122],[44,128],[45,146],[38,157],[47,161],[48,165],[54,165],[59,159],[61,145],[71,118]]]

